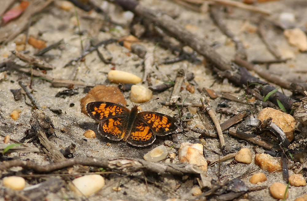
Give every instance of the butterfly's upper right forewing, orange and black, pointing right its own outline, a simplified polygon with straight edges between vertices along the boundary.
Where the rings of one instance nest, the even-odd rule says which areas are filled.
[[[140,112],[137,116],[139,119],[142,119],[142,121],[150,127],[153,134],[157,136],[168,135],[178,128],[175,125],[175,123],[177,123],[176,119],[162,113]]]

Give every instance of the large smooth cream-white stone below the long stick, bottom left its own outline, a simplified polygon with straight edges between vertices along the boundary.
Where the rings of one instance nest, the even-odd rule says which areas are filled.
[[[69,184],[69,188],[74,191],[77,195],[90,196],[104,186],[104,179],[100,175],[85,175],[74,179]]]

